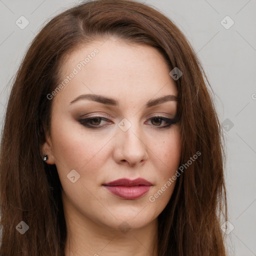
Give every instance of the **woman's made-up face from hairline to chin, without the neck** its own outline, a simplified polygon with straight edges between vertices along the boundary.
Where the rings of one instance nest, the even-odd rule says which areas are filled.
[[[156,219],[175,185],[166,182],[180,160],[179,126],[168,123],[177,101],[155,99],[177,96],[177,89],[155,48],[113,38],[102,43],[80,47],[62,66],[62,86],[48,95],[51,133],[42,152],[56,165],[65,214],[80,223],[139,228]],[[137,178],[148,183],[132,183]],[[131,183],[105,185],[117,179]]]

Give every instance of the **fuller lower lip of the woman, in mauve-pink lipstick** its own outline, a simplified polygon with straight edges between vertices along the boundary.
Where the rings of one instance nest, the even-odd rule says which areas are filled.
[[[137,186],[106,186],[106,189],[112,194],[124,199],[136,199],[143,196],[151,186],[137,185]]]

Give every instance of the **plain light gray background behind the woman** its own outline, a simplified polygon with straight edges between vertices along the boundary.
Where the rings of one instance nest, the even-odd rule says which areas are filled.
[[[11,86],[9,82],[28,44],[47,20],[76,2],[0,0],[1,127]],[[191,42],[206,71],[225,133],[225,176],[230,221],[225,232],[234,227],[227,234],[226,247],[229,255],[256,255],[256,2],[146,2],[157,7],[178,25]],[[15,23],[20,20],[21,15],[29,21],[24,29],[20,29]],[[224,18],[226,15],[234,21],[231,27],[232,21]],[[229,28],[226,29],[223,25]]]

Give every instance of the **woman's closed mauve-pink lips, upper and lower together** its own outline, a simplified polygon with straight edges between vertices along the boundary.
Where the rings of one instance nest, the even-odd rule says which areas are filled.
[[[120,178],[102,184],[112,194],[124,199],[137,199],[148,192],[152,184],[144,178]]]

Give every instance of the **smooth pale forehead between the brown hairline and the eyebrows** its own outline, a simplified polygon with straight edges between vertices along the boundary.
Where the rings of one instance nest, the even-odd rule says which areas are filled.
[[[112,38],[93,41],[65,58],[60,82],[68,81],[56,96],[69,100],[79,94],[95,93],[117,99],[125,97],[135,103],[154,95],[177,95],[169,71],[165,58],[151,46]]]

